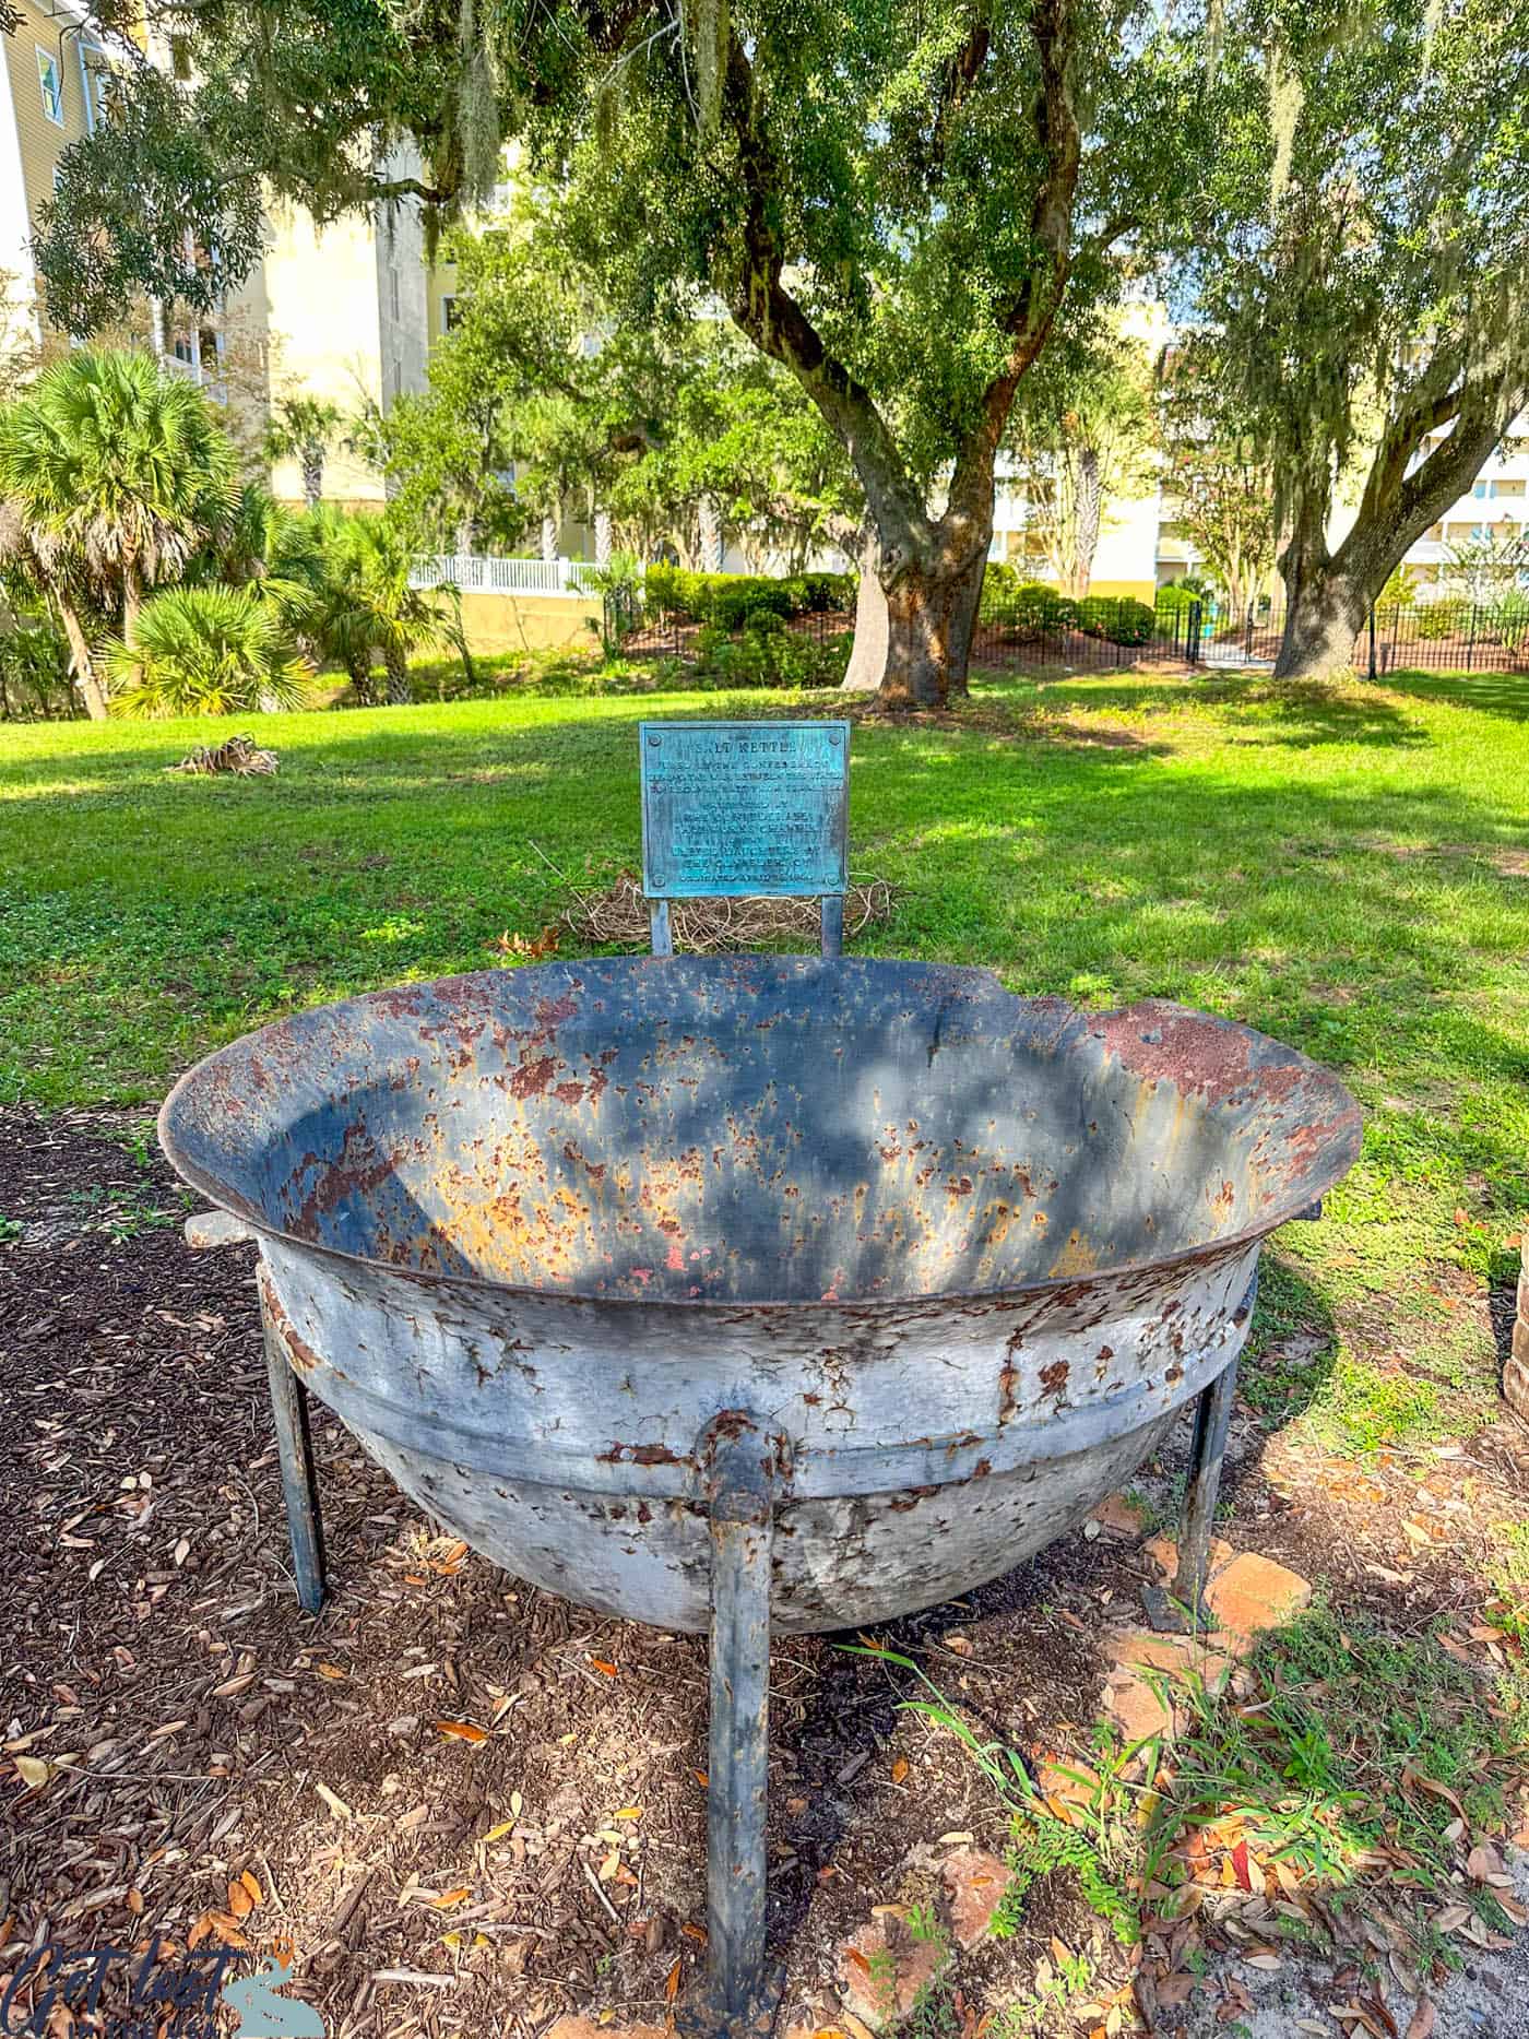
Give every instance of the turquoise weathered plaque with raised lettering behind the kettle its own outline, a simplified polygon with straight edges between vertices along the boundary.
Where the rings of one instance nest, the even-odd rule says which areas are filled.
[[[642,891],[842,893],[848,722],[640,722]]]

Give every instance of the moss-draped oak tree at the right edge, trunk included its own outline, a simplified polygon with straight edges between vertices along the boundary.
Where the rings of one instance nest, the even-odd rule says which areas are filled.
[[[1523,0],[1258,0],[1193,214],[1187,353],[1268,461],[1280,671],[1364,612],[1529,402]],[[1329,542],[1339,477],[1358,516]]]

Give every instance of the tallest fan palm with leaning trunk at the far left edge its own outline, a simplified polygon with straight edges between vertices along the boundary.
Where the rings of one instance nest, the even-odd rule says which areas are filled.
[[[130,638],[145,591],[228,520],[236,457],[206,398],[137,349],[82,349],[0,408],[0,561],[47,595],[92,716],[102,622]]]

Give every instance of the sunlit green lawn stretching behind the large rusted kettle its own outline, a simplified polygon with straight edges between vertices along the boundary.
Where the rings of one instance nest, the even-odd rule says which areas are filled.
[[[271,716],[273,781],[163,771],[218,724],[2,730],[0,1103],[155,1099],[292,1005],[497,960],[552,918],[548,860],[581,885],[636,865],[638,716],[801,699]],[[1290,697],[1127,673],[862,726],[852,860],[903,889],[873,946],[1295,1042],[1368,1109],[1362,1166],[1293,1248],[1325,1307],[1486,1272],[1529,1207],[1527,718],[1529,681],[1500,677]],[[1333,1421],[1350,1391],[1368,1407],[1327,1387]],[[1427,1429],[1415,1401],[1392,1427]]]

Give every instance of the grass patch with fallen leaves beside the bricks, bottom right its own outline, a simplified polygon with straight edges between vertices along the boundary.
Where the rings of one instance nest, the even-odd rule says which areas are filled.
[[[1264,1635],[1240,1682],[1213,1690],[1164,1680],[1180,1731],[1123,1747],[1099,1723],[1072,1768],[1066,1805],[1044,1798],[1025,1758],[993,1741],[903,1656],[921,1696],[907,1701],[952,1733],[1011,1819],[1013,1882],[995,1919],[1017,1931],[1036,1886],[1062,1880],[1121,1945],[1152,1919],[1191,1915],[1195,1884],[1225,1890],[1225,1864],[1250,1892],[1290,1900],[1280,1931],[1327,1937],[1323,1913],[1348,1902],[1392,1911],[1429,1943],[1427,1906],[1447,1894],[1500,1929],[1488,1886],[1464,1876],[1472,1845],[1509,1825],[1523,1780],[1513,1723],[1478,1676],[1431,1635],[1399,1639],[1313,1607]]]

